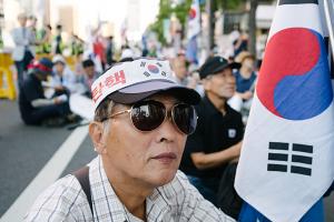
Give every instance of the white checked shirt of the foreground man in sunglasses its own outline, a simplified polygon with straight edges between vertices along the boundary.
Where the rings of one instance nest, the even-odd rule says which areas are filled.
[[[89,164],[89,180],[94,220],[79,182],[73,175],[67,175],[40,194],[24,221],[141,221],[115,194],[99,157]],[[146,199],[146,215],[148,222],[234,221],[206,201],[180,171],[170,183],[155,189]]]

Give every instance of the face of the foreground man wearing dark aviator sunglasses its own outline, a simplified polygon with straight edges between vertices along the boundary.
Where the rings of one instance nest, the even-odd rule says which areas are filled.
[[[177,103],[169,95],[154,95],[168,111]],[[112,113],[128,110],[129,107],[116,105]],[[111,172],[117,171],[128,181],[136,181],[148,188],[157,188],[170,182],[179,167],[185,148],[186,134],[177,130],[170,119],[149,132],[137,130],[129,113],[109,119],[105,133],[106,153],[104,165]],[[107,164],[105,163],[107,161]]]

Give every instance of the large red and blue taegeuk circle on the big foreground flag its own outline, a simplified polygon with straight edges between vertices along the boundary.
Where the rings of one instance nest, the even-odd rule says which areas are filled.
[[[256,93],[272,113],[306,120],[322,113],[333,100],[323,37],[311,29],[289,28],[267,43]]]

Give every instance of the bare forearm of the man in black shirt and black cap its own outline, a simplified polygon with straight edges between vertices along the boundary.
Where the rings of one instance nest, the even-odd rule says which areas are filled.
[[[228,163],[239,157],[242,149],[242,142],[232,145],[226,150],[214,153],[195,152],[191,153],[191,160],[198,170],[205,170],[216,168],[218,165]]]

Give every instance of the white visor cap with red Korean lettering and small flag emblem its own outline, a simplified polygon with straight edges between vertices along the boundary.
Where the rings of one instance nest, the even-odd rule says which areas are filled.
[[[195,90],[175,81],[167,60],[140,58],[117,63],[91,85],[95,110],[108,95],[115,102],[130,104],[160,91],[168,91],[189,104],[200,100]]]

